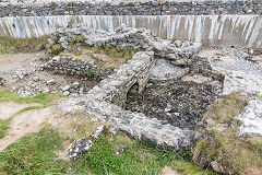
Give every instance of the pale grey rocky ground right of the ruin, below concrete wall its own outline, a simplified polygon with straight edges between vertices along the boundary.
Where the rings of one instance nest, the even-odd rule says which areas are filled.
[[[262,95],[262,66],[251,62],[238,50],[223,49],[223,51],[225,54],[207,56],[212,69],[225,75],[223,94],[242,91]]]

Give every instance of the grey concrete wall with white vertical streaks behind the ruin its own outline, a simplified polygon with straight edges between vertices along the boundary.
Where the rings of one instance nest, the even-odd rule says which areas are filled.
[[[39,37],[60,27],[81,26],[114,32],[126,24],[147,28],[166,39],[191,40],[207,46],[262,48],[259,15],[56,15],[0,18],[0,36]]]

